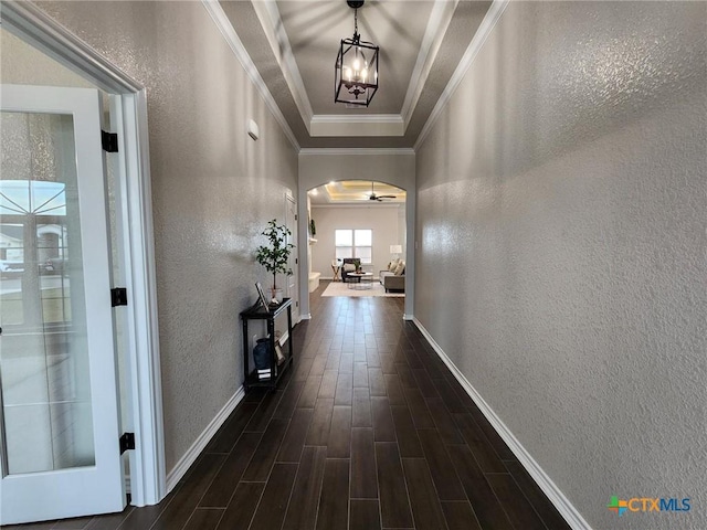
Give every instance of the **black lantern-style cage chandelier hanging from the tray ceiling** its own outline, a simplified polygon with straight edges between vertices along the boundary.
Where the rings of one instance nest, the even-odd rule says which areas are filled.
[[[363,0],[347,0],[354,9],[354,38],[341,39],[336,57],[334,102],[367,106],[378,91],[378,51],[358,33],[358,8]]]

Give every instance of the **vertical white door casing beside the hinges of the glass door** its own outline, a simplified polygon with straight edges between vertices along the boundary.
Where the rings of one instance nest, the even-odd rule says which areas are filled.
[[[122,125],[118,137],[124,139],[123,160],[126,173],[122,204],[126,224],[123,247],[127,257],[126,287],[130,294],[127,306],[130,340],[127,354],[133,367],[133,428],[140,451],[130,455],[133,476],[131,502],[135,506],[156,505],[165,495],[165,425],[162,421],[161,367],[157,311],[157,274],[152,226],[152,191],[149,169],[149,131],[145,91],[122,95]],[[129,227],[128,227],[129,226]]]

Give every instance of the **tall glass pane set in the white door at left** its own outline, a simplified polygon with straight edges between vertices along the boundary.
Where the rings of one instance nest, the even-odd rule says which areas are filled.
[[[8,474],[92,466],[73,117],[3,112],[0,128],[0,248],[12,264],[0,283]]]

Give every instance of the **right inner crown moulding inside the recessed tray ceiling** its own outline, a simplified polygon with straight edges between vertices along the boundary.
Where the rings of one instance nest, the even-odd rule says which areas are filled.
[[[430,13],[430,20],[428,21],[428,28],[424,31],[422,44],[420,45],[420,52],[418,53],[418,61],[415,67],[410,76],[410,84],[408,85],[408,93],[402,104],[400,112],[404,127],[408,128],[412,113],[418,106],[420,95],[428,82],[428,76],[432,70],[432,65],[437,56],[440,46],[446,33],[446,29],[450,26],[454,11],[458,6],[460,0],[446,1],[436,0],[432,12]]]

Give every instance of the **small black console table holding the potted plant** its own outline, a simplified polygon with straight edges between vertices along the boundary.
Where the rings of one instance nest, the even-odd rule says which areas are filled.
[[[277,356],[275,354],[275,319],[287,310],[287,353],[284,353],[285,360],[277,364]],[[241,320],[243,320],[243,373],[245,374],[245,381],[243,386],[245,392],[251,388],[265,386],[267,389],[275,389],[279,378],[292,364],[294,358],[293,337],[292,337],[292,298],[283,299],[282,304],[271,305],[268,310],[261,304],[255,304],[253,307],[241,312]],[[270,379],[260,379],[257,370],[251,370],[249,367],[249,333],[247,322],[250,320],[266,320],[267,321],[267,336],[270,337]]]

